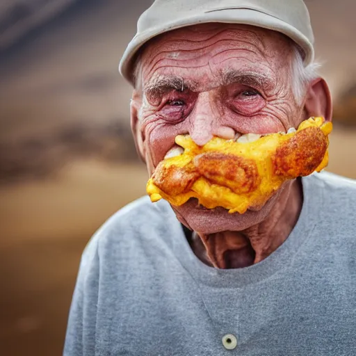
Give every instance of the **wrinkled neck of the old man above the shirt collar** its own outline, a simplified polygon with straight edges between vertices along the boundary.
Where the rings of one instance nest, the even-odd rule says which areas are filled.
[[[216,268],[242,268],[257,264],[286,241],[302,209],[299,179],[284,187],[280,199],[261,223],[241,232],[197,234],[191,237],[193,252],[205,264]]]

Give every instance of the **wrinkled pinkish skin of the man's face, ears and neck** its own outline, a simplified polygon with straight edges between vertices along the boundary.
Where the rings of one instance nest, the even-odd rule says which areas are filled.
[[[134,90],[131,102],[131,126],[149,175],[179,134],[204,145],[213,136],[286,131],[310,116],[331,120],[330,92],[321,78],[309,83],[297,104],[292,58],[284,35],[252,26],[202,24],[149,42],[141,58],[142,90]],[[202,261],[237,268],[276,250],[301,207],[302,186],[295,179],[258,211],[205,210],[194,200],[172,208],[195,232],[191,245]]]

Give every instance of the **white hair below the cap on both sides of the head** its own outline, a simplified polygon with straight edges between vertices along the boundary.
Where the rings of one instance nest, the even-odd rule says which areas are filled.
[[[300,48],[294,44],[292,44],[293,50],[293,60],[291,62],[291,88],[293,90],[293,95],[296,99],[297,104],[302,104],[302,100],[305,97],[307,92],[307,86],[311,81],[317,79],[320,74],[318,72],[321,67],[320,63],[313,62],[305,67],[302,53]],[[136,90],[142,89],[142,61],[141,55],[138,55],[136,58],[134,67],[133,67],[133,83]]]

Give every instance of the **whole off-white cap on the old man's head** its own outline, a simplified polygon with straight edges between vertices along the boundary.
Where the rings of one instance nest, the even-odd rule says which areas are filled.
[[[152,38],[207,22],[248,24],[284,33],[302,50],[304,63],[314,60],[314,35],[302,0],[156,0],[137,23],[137,33],[121,58],[119,70],[133,83],[132,61]]]

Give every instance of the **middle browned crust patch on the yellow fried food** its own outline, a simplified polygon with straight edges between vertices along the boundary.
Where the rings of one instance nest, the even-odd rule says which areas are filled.
[[[233,154],[207,152],[193,160],[198,172],[214,184],[226,186],[234,193],[250,193],[259,184],[259,172],[252,159]]]

